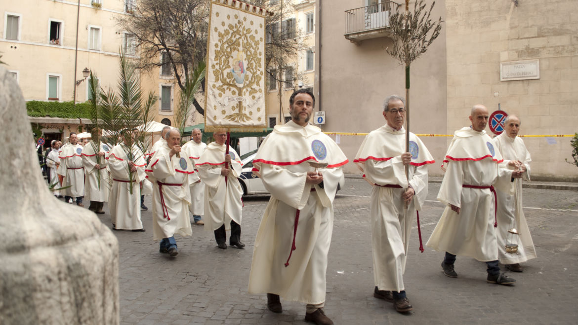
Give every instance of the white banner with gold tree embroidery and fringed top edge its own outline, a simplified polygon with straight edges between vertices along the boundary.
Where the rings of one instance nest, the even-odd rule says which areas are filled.
[[[207,43],[205,129],[262,130],[265,15],[236,0],[212,0]]]

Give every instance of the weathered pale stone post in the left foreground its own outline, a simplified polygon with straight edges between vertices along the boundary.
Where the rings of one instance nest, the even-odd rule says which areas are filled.
[[[20,88],[0,66],[0,324],[118,324],[118,241],[57,200]]]

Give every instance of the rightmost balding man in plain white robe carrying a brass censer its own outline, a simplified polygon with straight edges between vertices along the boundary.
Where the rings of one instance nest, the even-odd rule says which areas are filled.
[[[506,270],[522,272],[520,263],[536,258],[536,249],[532,241],[528,223],[522,208],[522,179],[530,180],[530,153],[524,145],[520,131],[520,119],[516,115],[509,115],[504,121],[504,132],[494,138],[494,146],[504,159],[501,164],[504,168],[522,171],[522,178],[510,182],[510,195],[502,190],[498,192],[498,260],[504,264]],[[509,233],[516,229],[518,234]],[[517,245],[516,252],[507,252],[506,245]]]

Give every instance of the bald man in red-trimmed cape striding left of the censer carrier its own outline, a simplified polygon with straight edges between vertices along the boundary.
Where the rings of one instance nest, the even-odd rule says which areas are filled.
[[[522,172],[499,167],[502,155],[484,131],[488,122],[486,106],[474,106],[469,119],[472,125],[454,133],[443,160],[447,170],[438,200],[446,204],[446,209],[427,246],[446,252],[442,270],[447,277],[458,276],[454,270],[457,255],[469,256],[486,262],[487,282],[511,285],[516,280],[501,273],[498,263],[494,186],[507,192],[510,179],[520,178]]]

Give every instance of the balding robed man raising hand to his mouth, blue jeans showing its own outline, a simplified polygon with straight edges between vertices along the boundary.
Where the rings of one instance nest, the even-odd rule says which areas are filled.
[[[166,145],[158,148],[145,171],[153,183],[153,238],[161,240],[161,253],[175,257],[179,253],[175,234],[192,235],[189,184],[198,180],[198,174],[191,160],[181,155],[179,131],[169,130],[165,140]]]

